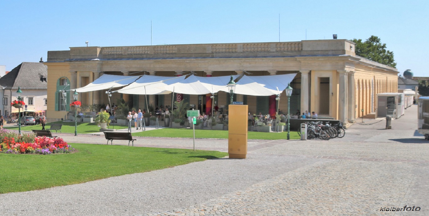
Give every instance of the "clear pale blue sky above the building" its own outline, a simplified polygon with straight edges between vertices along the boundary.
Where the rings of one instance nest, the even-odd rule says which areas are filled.
[[[0,65],[69,47],[381,38],[399,72],[429,76],[429,1],[0,1]],[[307,34],[305,33],[307,32]]]

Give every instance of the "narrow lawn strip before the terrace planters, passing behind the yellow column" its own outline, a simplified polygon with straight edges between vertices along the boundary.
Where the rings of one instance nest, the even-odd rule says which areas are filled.
[[[142,137],[178,137],[178,138],[193,138],[192,129],[177,129],[177,128],[164,128],[161,130],[150,130],[133,133],[133,136]],[[221,130],[195,130],[195,138],[228,138],[228,131]],[[266,132],[248,132],[248,139],[266,139],[278,140],[286,139],[287,132],[280,133],[266,133]],[[290,132],[290,139],[300,139],[297,132]]]

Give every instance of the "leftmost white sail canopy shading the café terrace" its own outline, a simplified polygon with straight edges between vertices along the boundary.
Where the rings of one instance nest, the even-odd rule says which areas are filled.
[[[81,93],[81,92],[92,92],[92,91],[105,90],[105,89],[110,89],[110,88],[123,87],[123,86],[130,84],[130,83],[133,83],[139,77],[140,76],[123,76],[123,75],[103,74],[98,79],[96,79],[94,82],[92,82],[92,83],[90,83],[84,87],[77,88],[76,92],[79,92],[79,93]]]

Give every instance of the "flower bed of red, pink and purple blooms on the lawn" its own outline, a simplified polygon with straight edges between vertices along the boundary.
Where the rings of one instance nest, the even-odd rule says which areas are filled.
[[[62,138],[35,137],[33,134],[19,135],[6,129],[0,130],[0,153],[52,154],[71,153],[74,149]]]

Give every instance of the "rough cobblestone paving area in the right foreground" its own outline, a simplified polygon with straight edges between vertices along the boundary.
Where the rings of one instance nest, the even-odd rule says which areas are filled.
[[[414,169],[414,164],[399,162],[315,163],[203,204],[139,216],[384,215],[381,207],[402,205],[416,181],[410,175]]]

